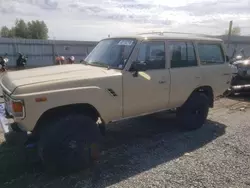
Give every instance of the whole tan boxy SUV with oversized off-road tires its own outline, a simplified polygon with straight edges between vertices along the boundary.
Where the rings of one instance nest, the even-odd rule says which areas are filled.
[[[107,38],[83,64],[7,73],[1,87],[16,124],[2,127],[31,132],[46,166],[81,169],[98,158],[109,122],[177,109],[180,126],[200,128],[229,87],[226,59],[222,40],[193,34]]]

